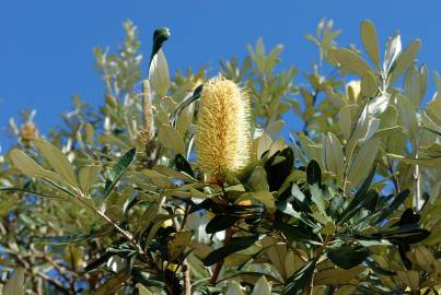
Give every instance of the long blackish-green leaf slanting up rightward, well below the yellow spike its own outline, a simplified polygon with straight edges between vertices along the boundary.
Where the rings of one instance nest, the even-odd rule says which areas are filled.
[[[219,249],[211,251],[205,259],[204,266],[209,267],[223,260],[231,253],[244,250],[254,245],[258,240],[258,235],[245,236],[245,237],[232,237],[225,245]]]

